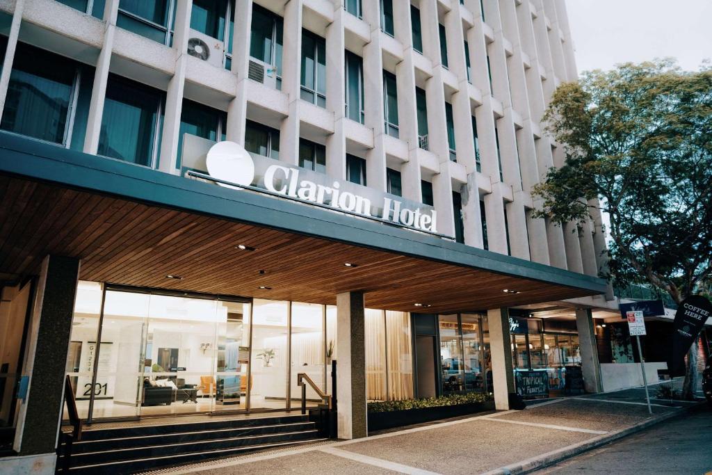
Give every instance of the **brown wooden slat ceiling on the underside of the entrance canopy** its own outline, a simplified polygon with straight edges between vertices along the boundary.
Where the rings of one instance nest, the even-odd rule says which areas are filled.
[[[47,254],[80,257],[89,281],[328,304],[362,290],[367,306],[389,310],[486,310],[591,294],[0,176],[0,283],[38,273]]]

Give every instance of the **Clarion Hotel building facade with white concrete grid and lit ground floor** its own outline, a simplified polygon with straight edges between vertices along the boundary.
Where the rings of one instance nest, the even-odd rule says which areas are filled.
[[[0,466],[54,463],[66,376],[99,425],[296,409],[336,361],[342,438],[518,371],[601,390],[601,221],[532,215],[563,0],[0,11]]]

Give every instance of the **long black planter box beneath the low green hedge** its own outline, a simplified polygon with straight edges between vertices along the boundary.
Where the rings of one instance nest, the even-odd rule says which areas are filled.
[[[471,402],[456,406],[423,407],[420,409],[405,409],[402,411],[369,412],[368,431],[391,429],[410,424],[447,419],[449,417],[475,414],[476,412],[493,411],[494,401]]]

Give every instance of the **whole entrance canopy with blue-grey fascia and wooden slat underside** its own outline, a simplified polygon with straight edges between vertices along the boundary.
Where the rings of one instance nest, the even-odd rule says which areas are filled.
[[[605,291],[600,278],[1,132],[0,284],[47,254],[79,257],[88,281],[328,304],[364,291],[370,308],[409,312]]]

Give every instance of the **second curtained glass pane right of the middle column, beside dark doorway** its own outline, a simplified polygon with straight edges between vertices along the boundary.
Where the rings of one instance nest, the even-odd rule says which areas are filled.
[[[388,399],[412,399],[413,351],[409,313],[386,310],[386,335]]]

